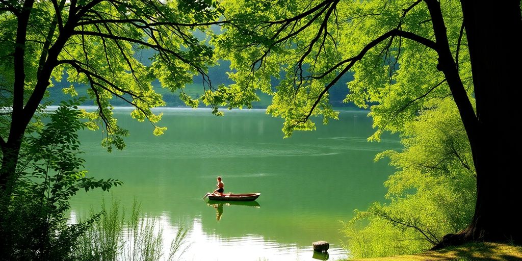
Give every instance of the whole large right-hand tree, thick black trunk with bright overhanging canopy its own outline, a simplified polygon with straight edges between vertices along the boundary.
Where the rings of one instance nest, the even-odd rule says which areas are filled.
[[[469,227],[439,246],[468,240],[522,242],[511,122],[517,118],[522,58],[520,1],[223,1],[226,32],[215,38],[237,70],[236,84],[209,93],[248,105],[256,89],[274,95],[268,112],[283,132],[313,129],[311,116],[336,118],[328,91],[353,73],[346,101],[371,106],[375,135],[398,132],[419,111],[452,97],[477,173]],[[271,77],[284,79],[273,90]],[[514,91],[514,93],[512,93]],[[254,97],[254,98],[253,98]],[[472,98],[476,99],[473,106]],[[497,111],[502,104],[502,112]],[[474,109],[476,108],[476,109]]]

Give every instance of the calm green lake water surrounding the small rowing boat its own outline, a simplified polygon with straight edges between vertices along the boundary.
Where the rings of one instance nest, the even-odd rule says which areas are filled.
[[[89,175],[125,184],[112,193],[79,193],[71,214],[85,216],[103,197],[128,207],[137,198],[147,215],[159,217],[167,242],[180,225],[190,228],[183,260],[315,260],[311,243],[318,240],[330,242],[330,260],[346,258],[341,221],[383,200],[383,182],[394,170],[373,159],[400,148],[397,137],[366,141],[373,133],[367,112],[341,112],[340,121],[287,139],[282,120],[264,110],[224,117],[208,110],[163,112],[160,125],[168,131],[156,137],[150,124],[118,110],[131,132],[123,151],[101,148],[101,132],[81,132]],[[217,175],[226,192],[262,195],[250,206],[207,204],[203,196],[215,189]]]

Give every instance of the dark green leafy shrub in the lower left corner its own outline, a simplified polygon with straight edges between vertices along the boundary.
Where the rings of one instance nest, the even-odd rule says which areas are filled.
[[[2,260],[74,260],[76,240],[96,216],[68,224],[69,199],[89,191],[121,185],[117,180],[86,177],[79,157],[77,131],[84,127],[76,102],[50,113],[43,128],[24,139],[17,183],[9,201],[2,198]]]

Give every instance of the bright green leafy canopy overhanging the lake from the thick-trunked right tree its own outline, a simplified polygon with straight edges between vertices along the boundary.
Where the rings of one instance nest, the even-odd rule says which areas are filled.
[[[428,9],[419,2],[232,0],[222,5],[233,22],[225,25],[227,31],[215,43],[237,72],[231,75],[236,84],[215,96],[248,105],[253,90],[272,94],[268,112],[286,120],[286,135],[294,129],[314,129],[310,116],[323,115],[324,122],[337,118],[328,90],[349,71],[354,79],[344,78],[352,80],[345,101],[361,108],[376,104],[370,108],[376,139],[382,131],[400,131],[419,109],[436,103],[426,104],[430,98],[450,93],[433,59],[436,51],[423,45],[434,44],[428,40],[433,29],[426,22]],[[455,54],[463,38],[458,7],[458,2],[443,6]],[[469,80],[466,50],[459,50],[459,56],[461,74]],[[270,77],[281,74],[284,79],[273,91]]]

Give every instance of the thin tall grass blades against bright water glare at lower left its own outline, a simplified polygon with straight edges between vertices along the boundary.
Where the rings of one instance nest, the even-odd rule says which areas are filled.
[[[80,260],[100,261],[173,261],[188,248],[188,229],[180,227],[171,242],[167,255],[163,251],[163,229],[157,226],[156,217],[148,217],[134,200],[128,219],[120,200],[113,199],[110,209],[102,201],[101,212],[93,209],[92,227],[78,240],[77,256]]]

